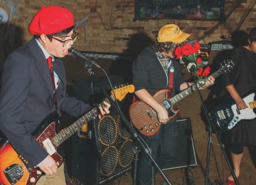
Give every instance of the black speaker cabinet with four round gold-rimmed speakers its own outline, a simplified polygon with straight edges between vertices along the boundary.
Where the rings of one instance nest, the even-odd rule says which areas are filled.
[[[131,170],[131,134],[114,110],[89,125],[91,138],[72,142],[72,175],[85,184],[105,184]]]

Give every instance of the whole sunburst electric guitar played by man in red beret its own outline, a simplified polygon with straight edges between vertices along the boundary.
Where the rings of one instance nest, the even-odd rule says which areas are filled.
[[[111,91],[111,99],[120,101],[123,100],[127,93],[134,92],[134,85],[124,85],[113,91]],[[105,98],[104,101],[109,103],[108,98]],[[99,107],[102,105],[103,102],[99,104]],[[56,126],[59,122],[59,117],[58,114],[52,113],[45,117],[40,126],[31,134],[35,135],[37,142],[44,147],[45,151],[47,151],[56,161],[57,165],[60,166],[63,162],[63,158],[58,154],[57,147],[98,114],[99,109],[97,107],[92,108],[92,110],[80,117],[76,122],[57,134]],[[29,168],[26,159],[22,158],[22,156],[13,149],[8,140],[1,142],[0,184],[33,185],[42,175],[44,175],[44,173],[36,166]]]

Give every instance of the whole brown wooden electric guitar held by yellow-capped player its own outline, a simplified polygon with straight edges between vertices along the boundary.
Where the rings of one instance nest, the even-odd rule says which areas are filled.
[[[210,77],[218,77],[222,73],[228,73],[232,68],[234,68],[234,63],[232,61],[223,61],[221,63],[221,68],[212,73]],[[207,77],[210,79],[210,77]],[[204,81],[206,78],[204,79]],[[198,87],[201,87],[203,84],[197,84]],[[154,94],[154,99],[161,104],[164,108],[166,108],[169,121],[176,117],[179,114],[179,109],[175,110],[173,105],[178,101],[182,100],[189,94],[193,93],[196,90],[196,85],[191,85],[188,89],[185,89],[181,93],[173,96],[172,98],[166,98],[166,94],[170,92],[168,89],[163,89]],[[157,119],[156,111],[148,106],[146,103],[142,101],[134,101],[129,108],[129,115],[131,118],[132,125],[135,126],[141,134],[146,136],[152,136],[157,133],[161,126],[161,122]]]

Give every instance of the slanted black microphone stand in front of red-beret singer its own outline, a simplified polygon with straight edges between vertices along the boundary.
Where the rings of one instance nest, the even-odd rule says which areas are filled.
[[[95,63],[95,62],[94,62]],[[138,141],[138,143],[141,145],[141,150],[143,152],[145,152],[145,154],[147,154],[148,158],[150,158],[150,160],[152,161],[153,165],[157,168],[157,170],[159,171],[159,173],[162,175],[164,181],[166,181],[166,183],[168,183],[169,185],[172,185],[171,182],[168,180],[168,178],[166,177],[166,175],[163,173],[163,170],[161,170],[161,168],[159,168],[159,166],[157,165],[156,161],[152,158],[152,155],[150,154],[150,151],[148,149],[147,146],[145,146],[145,141],[143,140],[143,138],[141,138],[140,135],[138,135],[137,131],[131,126],[131,124],[129,123],[129,121],[127,121],[125,115],[122,113],[122,111],[120,110],[120,108],[118,107],[118,104],[116,103],[116,101],[113,101],[109,94],[106,92],[106,90],[102,87],[102,85],[100,84],[99,80],[97,80],[97,78],[95,77],[93,71],[92,71],[92,64],[88,61],[86,61],[84,68],[87,69],[88,73],[90,74],[90,76],[92,76],[93,80],[95,80],[96,84],[99,85],[100,89],[102,90],[102,93],[104,93],[104,95],[108,98],[108,100],[110,101],[111,105],[113,105],[113,107],[115,108],[115,110],[118,112],[118,114],[120,115],[120,118],[124,121],[125,125],[127,126],[127,129],[129,129],[132,137],[134,139],[136,139],[136,141]],[[99,66],[99,65],[98,65]],[[105,74],[106,71],[104,69],[102,69],[101,67],[100,70],[102,70]],[[108,75],[106,74],[106,77],[108,77]],[[110,85],[111,82],[109,81]],[[112,87],[112,85],[111,85]],[[112,88],[113,89],[113,88]],[[134,179],[134,181],[136,181],[136,179]]]

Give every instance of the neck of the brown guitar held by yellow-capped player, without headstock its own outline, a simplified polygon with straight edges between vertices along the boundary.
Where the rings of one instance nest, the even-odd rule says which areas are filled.
[[[220,70],[218,70],[218,71],[212,73],[212,74],[210,75],[210,77],[214,77],[214,78],[218,77],[218,76],[220,75],[219,71],[220,71]],[[207,78],[209,78],[209,77],[207,77]],[[206,80],[206,78],[203,79],[204,82],[205,82],[205,80]],[[197,83],[197,87],[198,87],[198,88],[199,88],[199,87],[202,87],[203,85],[204,85],[204,84]],[[196,91],[196,84],[191,85],[190,87],[188,87],[188,89],[185,89],[185,90],[182,91],[181,93],[179,93],[179,94],[173,96],[172,98],[170,98],[170,101],[171,101],[172,105],[175,104],[175,103],[177,103],[178,101],[182,100],[183,98],[185,98],[185,97],[188,96],[189,94],[193,93],[194,91]]]

